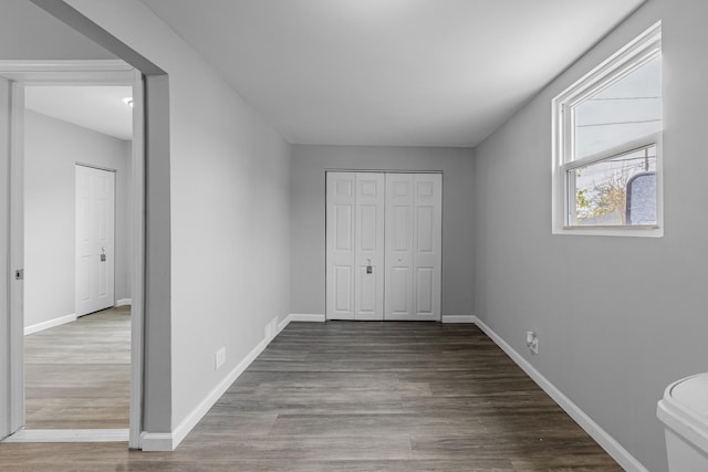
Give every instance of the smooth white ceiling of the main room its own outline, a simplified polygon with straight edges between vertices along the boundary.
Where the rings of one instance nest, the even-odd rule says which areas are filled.
[[[644,0],[143,0],[294,144],[476,146]]]

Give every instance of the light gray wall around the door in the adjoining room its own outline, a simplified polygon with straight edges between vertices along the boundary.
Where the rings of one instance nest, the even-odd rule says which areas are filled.
[[[24,326],[75,313],[75,162],[116,170],[115,297],[129,298],[131,143],[30,109],[24,136]]]

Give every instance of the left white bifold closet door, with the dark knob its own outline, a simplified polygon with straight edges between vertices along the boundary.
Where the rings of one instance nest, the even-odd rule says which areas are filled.
[[[384,318],[385,178],[326,175],[326,317]]]

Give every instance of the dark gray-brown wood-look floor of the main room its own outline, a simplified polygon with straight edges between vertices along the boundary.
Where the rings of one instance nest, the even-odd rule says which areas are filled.
[[[171,453],[0,444],[72,471],[621,471],[473,325],[292,323]]]

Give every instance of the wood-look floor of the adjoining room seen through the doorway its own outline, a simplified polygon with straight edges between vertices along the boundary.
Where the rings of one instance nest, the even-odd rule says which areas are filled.
[[[24,337],[27,429],[128,427],[131,307]]]

